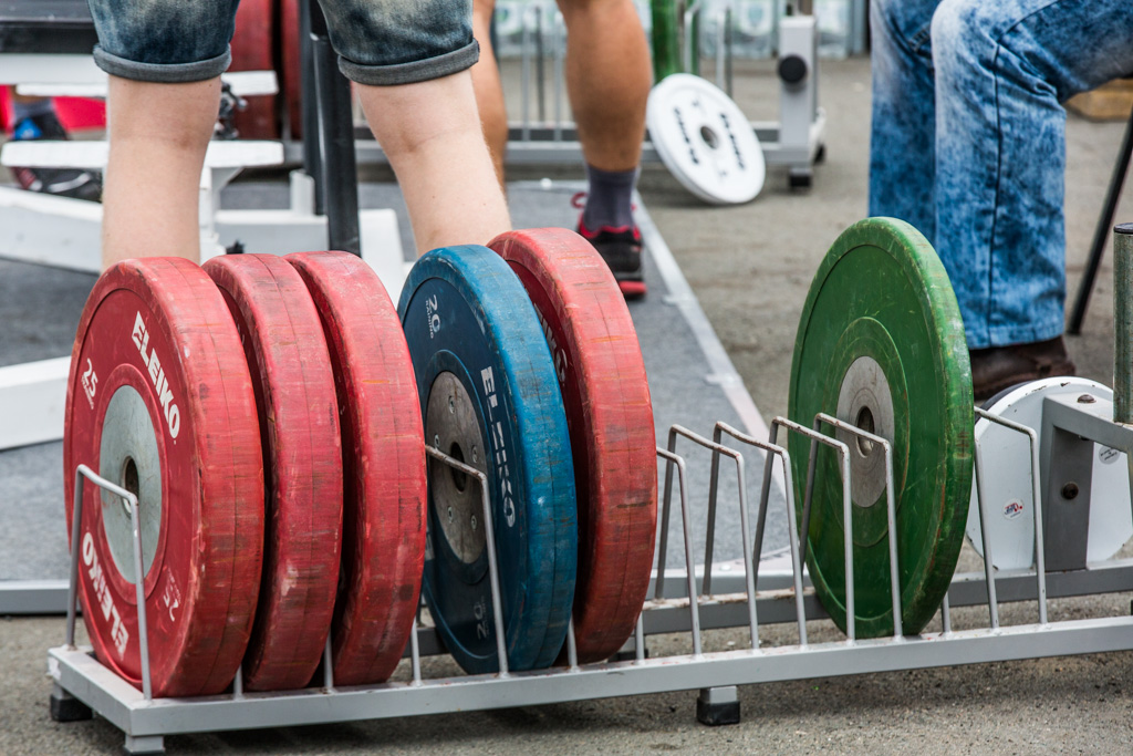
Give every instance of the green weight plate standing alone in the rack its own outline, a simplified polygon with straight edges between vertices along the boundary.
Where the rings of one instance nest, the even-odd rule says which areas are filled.
[[[879,375],[880,374],[880,375]],[[791,366],[791,419],[834,415],[893,444],[897,564],[905,634],[925,628],[955,571],[972,476],[972,379],[956,298],[931,245],[908,223],[847,229],[815,275]],[[833,434],[827,425],[824,432]],[[884,453],[850,448],[857,636],[893,632]],[[810,442],[792,434],[801,526]],[[823,606],[846,629],[842,465],[819,447],[807,567]]]

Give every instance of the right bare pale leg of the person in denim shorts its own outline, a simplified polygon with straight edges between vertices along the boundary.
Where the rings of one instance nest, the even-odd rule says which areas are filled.
[[[409,206],[418,254],[487,244],[511,228],[467,71],[400,86],[359,85],[366,119]]]

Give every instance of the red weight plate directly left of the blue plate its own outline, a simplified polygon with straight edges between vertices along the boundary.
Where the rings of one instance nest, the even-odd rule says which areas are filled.
[[[425,563],[425,431],[409,347],[377,274],[343,252],[288,255],[323,320],[342,430],[335,685],[382,682],[417,615]]]

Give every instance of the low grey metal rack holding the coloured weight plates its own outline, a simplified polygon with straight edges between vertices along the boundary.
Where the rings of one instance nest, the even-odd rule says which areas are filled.
[[[1117,332],[1127,337],[1133,323],[1133,224],[1119,227],[1117,233],[1115,298]],[[497,673],[429,678],[423,672],[425,656],[443,654],[434,629],[418,621],[411,634],[407,659],[395,676],[398,681],[375,686],[340,688],[334,683],[334,670],[327,655],[322,685],[288,693],[245,693],[238,673],[231,693],[201,698],[154,698],[150,693],[146,659],[146,619],[139,617],[143,648],[143,689],[138,690],[100,664],[90,648],[75,645],[75,589],[80,569],[77,545],[71,552],[71,595],[68,604],[66,643],[49,652],[49,669],[54,680],[52,713],[57,719],[82,719],[91,710],[122,730],[128,753],[153,753],[163,748],[169,734],[220,730],[290,727],[347,722],[368,719],[415,716],[441,712],[505,708],[581,699],[630,696],[673,690],[697,690],[698,719],[708,724],[724,724],[739,719],[735,686],[757,682],[798,680],[819,677],[858,674],[893,670],[972,664],[1042,656],[1098,653],[1133,648],[1133,618],[1127,615],[1093,619],[1051,620],[1048,604],[1054,598],[1133,589],[1133,560],[1108,560],[1087,564],[1084,561],[1084,527],[1089,518],[1088,486],[1068,491],[1067,483],[1089,479],[1089,468],[1075,468],[1074,449],[1088,449],[1092,459],[1094,444],[1116,450],[1133,459],[1133,359],[1128,339],[1118,337],[1115,351],[1115,399],[1054,396],[1046,399],[1043,427],[1040,434],[1030,427],[974,408],[978,422],[994,423],[1006,428],[1028,451],[1030,464],[1021,470],[996,470],[997,474],[1022,476],[1030,486],[1034,503],[1034,566],[1025,570],[995,570],[994,544],[989,528],[982,528],[985,570],[982,574],[954,576],[951,588],[938,611],[938,631],[904,635],[901,627],[901,592],[896,554],[896,506],[893,495],[893,450],[885,439],[860,430],[829,415],[819,414],[810,427],[777,417],[770,424],[768,441],[756,439],[734,427],[717,423],[712,438],[674,425],[666,448],[657,450],[664,473],[661,501],[661,533],[657,546],[657,571],[650,586],[651,596],[645,602],[633,638],[627,644],[622,661],[581,665],[577,661],[573,629],[568,634],[566,665],[533,672],[510,672],[506,654],[500,648],[501,670]],[[851,501],[850,447],[824,431],[837,430],[849,436],[879,445],[885,455],[885,478],[888,484],[886,508],[889,521],[891,553],[889,595],[894,610],[894,632],[889,637],[855,638],[853,625],[853,555],[854,543],[845,542],[846,637],[840,640],[812,643],[807,622],[826,617],[809,587],[800,554],[798,532],[789,529],[790,570],[759,575],[768,509],[772,506],[773,477],[782,472],[785,479],[785,507],[789,521],[794,521],[795,486],[792,462],[780,438],[799,434],[809,440],[809,462],[824,445],[841,461],[843,511],[849,518]],[[844,438],[849,438],[844,436]],[[1055,440],[1058,440],[1057,443]],[[682,451],[678,453],[678,451]],[[986,490],[985,457],[989,450],[976,447],[977,508],[981,523],[988,523],[991,502],[980,492]],[[706,551],[702,572],[693,555],[693,523],[690,515],[690,492],[687,481],[687,458],[707,455],[712,460],[708,483],[708,508],[704,528]],[[478,481],[486,524],[487,554],[493,592],[493,621],[496,637],[502,639],[503,618],[500,603],[497,557],[492,538],[492,509],[486,491],[486,477],[472,467],[436,449],[428,449],[431,465],[446,465]],[[750,511],[746,494],[746,469],[749,458],[761,459],[761,487]],[[776,470],[776,468],[778,468]],[[722,483],[735,476],[735,498],[721,500]],[[1082,476],[1085,475],[1083,478]],[[137,500],[128,492],[99,478],[88,468],[76,470],[76,481],[85,476],[122,500],[134,529],[134,559],[140,566],[142,541],[138,529]],[[730,482],[730,481],[729,481]],[[75,523],[83,507],[83,486],[77,485]],[[812,476],[803,486],[803,510],[813,491]],[[1045,498],[1043,498],[1045,492]],[[699,492],[698,492],[699,493]],[[1067,493],[1074,493],[1067,496]],[[1062,499],[1059,499],[1059,496]],[[1080,496],[1084,496],[1080,498]],[[1068,500],[1076,500],[1067,508]],[[1104,502],[1101,502],[1104,503]],[[743,542],[742,574],[714,568],[717,544],[717,511],[736,507],[740,537]],[[683,570],[666,571],[667,550],[674,532],[673,510],[681,518]],[[1063,519],[1060,536],[1053,538],[1050,521],[1072,512],[1076,519]],[[1050,517],[1050,516],[1054,517]],[[751,521],[752,517],[755,523]],[[806,515],[803,515],[806,518]],[[1043,523],[1047,521],[1045,529]],[[752,536],[753,530],[753,536]],[[78,538],[73,537],[73,544]],[[1057,552],[1057,553],[1054,553]],[[1081,554],[1074,562],[1073,554]],[[1048,571],[1048,558],[1058,561],[1058,571]],[[699,576],[698,576],[699,572]],[[1033,606],[1031,620],[1005,626],[999,621],[999,606],[1006,602],[1026,602]],[[986,621],[974,627],[955,629],[952,610],[959,606],[986,605]],[[144,601],[139,601],[144,610]],[[965,615],[965,625],[974,614]],[[765,647],[760,627],[772,623],[793,626],[793,643]],[[935,626],[935,623],[934,623]],[[749,643],[744,648],[705,651],[704,631],[717,628],[746,628]],[[682,653],[649,656],[646,638],[661,634],[683,634]]]

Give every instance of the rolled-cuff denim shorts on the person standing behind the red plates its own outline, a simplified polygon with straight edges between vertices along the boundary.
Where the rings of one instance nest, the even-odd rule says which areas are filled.
[[[139,82],[202,82],[231,62],[239,0],[88,0],[99,67]],[[339,68],[374,86],[470,68],[471,0],[320,0]]]

